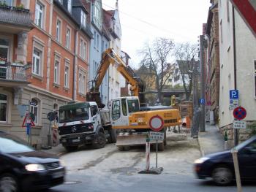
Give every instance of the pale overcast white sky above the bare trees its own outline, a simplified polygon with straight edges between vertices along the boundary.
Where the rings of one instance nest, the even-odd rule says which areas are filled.
[[[210,0],[118,0],[121,50],[130,65],[138,68],[138,50],[157,37],[198,44],[210,6]],[[102,0],[102,7],[115,9],[116,0]]]

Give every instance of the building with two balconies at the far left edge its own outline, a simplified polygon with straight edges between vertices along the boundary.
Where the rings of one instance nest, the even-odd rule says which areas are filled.
[[[18,9],[21,3],[24,9]],[[21,120],[23,113],[18,111],[23,104],[21,95],[29,85],[28,34],[33,28],[30,15],[29,4],[24,1],[0,5],[0,130],[16,134],[25,131],[17,119]],[[23,110],[26,112],[26,106]]]

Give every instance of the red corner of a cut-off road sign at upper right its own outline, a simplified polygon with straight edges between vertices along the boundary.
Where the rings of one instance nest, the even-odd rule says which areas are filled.
[[[240,13],[247,26],[256,36],[256,1],[255,0],[231,0],[236,10]]]

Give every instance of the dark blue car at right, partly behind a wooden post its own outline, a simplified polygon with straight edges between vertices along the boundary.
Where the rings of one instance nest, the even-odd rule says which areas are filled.
[[[236,146],[241,180],[256,180],[256,136]],[[228,185],[235,177],[233,155],[230,150],[212,153],[195,161],[200,179],[211,177],[217,185]]]

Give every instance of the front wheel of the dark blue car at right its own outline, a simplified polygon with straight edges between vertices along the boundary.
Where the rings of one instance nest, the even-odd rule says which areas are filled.
[[[212,172],[212,178],[217,185],[228,185],[233,180],[233,173],[227,166],[217,166]]]

